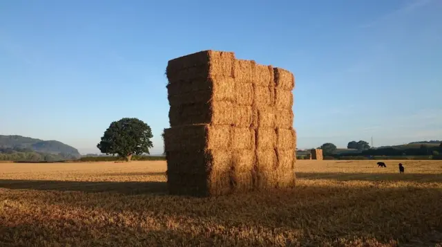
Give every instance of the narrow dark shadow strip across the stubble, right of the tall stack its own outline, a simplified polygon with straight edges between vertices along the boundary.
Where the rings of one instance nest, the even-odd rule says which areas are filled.
[[[337,181],[414,181],[417,183],[442,183],[441,174],[423,173],[348,173],[348,172],[296,172],[298,179],[329,179]]]

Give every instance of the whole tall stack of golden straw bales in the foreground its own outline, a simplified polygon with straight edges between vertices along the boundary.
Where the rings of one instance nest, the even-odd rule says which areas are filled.
[[[171,194],[215,196],[294,186],[294,75],[201,51],[170,60],[164,130]]]

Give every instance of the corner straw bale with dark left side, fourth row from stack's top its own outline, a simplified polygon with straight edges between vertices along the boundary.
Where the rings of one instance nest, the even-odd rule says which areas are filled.
[[[164,149],[169,151],[229,149],[229,125],[185,125],[164,129]]]

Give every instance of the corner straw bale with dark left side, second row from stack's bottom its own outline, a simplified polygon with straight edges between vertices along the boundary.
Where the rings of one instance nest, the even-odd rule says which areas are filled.
[[[232,167],[230,149],[206,149],[166,152],[167,170],[180,174],[206,174],[214,170],[226,171]]]

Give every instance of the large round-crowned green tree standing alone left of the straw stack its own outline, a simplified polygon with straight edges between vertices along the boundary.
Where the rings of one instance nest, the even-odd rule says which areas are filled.
[[[133,154],[150,154],[152,137],[151,127],[142,120],[122,118],[111,122],[97,147],[104,154],[118,154],[131,161]]]

